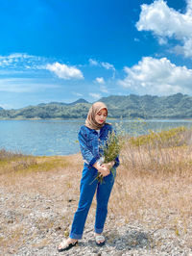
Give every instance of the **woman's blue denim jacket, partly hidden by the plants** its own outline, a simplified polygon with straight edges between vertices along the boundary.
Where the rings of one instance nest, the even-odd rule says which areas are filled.
[[[104,141],[107,141],[108,132],[111,132],[112,130],[112,126],[105,123],[105,125],[100,129],[100,134],[98,135],[96,130],[90,129],[85,125],[81,126],[78,139],[80,141],[84,162],[87,163],[89,167],[102,159],[103,150],[101,145],[104,145]],[[119,156],[117,156],[114,161],[115,164],[113,167],[119,166]]]

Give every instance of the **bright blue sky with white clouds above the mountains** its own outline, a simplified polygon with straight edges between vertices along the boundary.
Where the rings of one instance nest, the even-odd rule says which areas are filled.
[[[192,95],[192,0],[0,0],[0,107]]]

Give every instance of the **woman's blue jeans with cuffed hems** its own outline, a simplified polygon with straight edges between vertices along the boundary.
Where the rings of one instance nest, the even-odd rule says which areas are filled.
[[[71,239],[79,240],[83,237],[84,223],[96,191],[97,209],[94,230],[98,234],[103,232],[104,224],[108,215],[108,199],[114,184],[116,169],[114,175],[110,172],[108,176],[104,177],[103,183],[100,183],[95,179],[97,173],[98,171],[95,167],[88,167],[88,165],[84,163],[80,184],[80,201],[78,210],[73,218],[71,232],[69,235]]]

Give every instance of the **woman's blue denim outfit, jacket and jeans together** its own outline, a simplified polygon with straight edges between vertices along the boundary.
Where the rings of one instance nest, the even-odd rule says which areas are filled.
[[[96,192],[97,209],[95,216],[95,232],[100,234],[103,232],[104,224],[108,215],[108,199],[114,184],[116,175],[116,167],[119,166],[119,158],[116,157],[114,164],[114,176],[110,172],[104,177],[103,183],[98,182],[95,177],[98,170],[93,166],[97,161],[101,160],[103,150],[101,145],[108,139],[108,132],[113,130],[110,124],[105,124],[100,129],[100,134],[97,131],[90,129],[85,125],[81,126],[78,134],[80,141],[81,152],[84,158],[84,169],[80,184],[80,200],[78,209],[74,215],[71,232],[69,237],[79,240],[83,236],[84,223],[92,203],[93,196]]]

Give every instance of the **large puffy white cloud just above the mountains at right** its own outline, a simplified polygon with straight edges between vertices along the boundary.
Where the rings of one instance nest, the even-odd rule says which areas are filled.
[[[125,67],[126,78],[118,84],[137,94],[192,93],[192,69],[172,64],[166,58],[143,58],[132,67]]]

